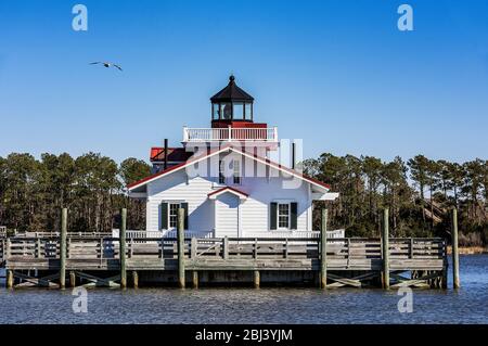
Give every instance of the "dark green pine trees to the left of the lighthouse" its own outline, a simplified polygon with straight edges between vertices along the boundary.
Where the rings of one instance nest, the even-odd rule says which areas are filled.
[[[128,158],[120,165],[101,154],[79,157],[12,153],[0,157],[0,226],[16,231],[59,231],[60,209],[69,210],[69,231],[108,232],[118,210],[128,208],[128,227],[145,228],[145,204],[129,200],[124,187],[146,177],[151,167]]]

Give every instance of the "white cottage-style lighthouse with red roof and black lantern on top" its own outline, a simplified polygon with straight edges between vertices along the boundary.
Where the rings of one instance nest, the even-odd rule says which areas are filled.
[[[188,236],[316,236],[312,202],[338,194],[294,169],[294,159],[270,159],[278,128],[255,121],[254,98],[233,76],[210,101],[211,126],[183,127],[180,148],[153,148],[154,175],[128,187],[146,202],[147,234],[175,236],[182,207]]]

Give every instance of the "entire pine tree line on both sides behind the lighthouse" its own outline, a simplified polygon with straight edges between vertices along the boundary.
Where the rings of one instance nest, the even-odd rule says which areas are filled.
[[[334,156],[301,163],[305,174],[339,192],[328,204],[332,228],[347,236],[378,236],[382,210],[389,208],[393,236],[447,236],[450,209],[458,208],[460,242],[488,240],[488,162],[458,164],[416,155],[404,162],[373,156]],[[151,174],[137,158],[120,165],[88,153],[79,157],[12,153],[0,157],[0,226],[17,231],[57,231],[60,209],[69,209],[69,230],[108,232],[118,210],[128,209],[128,228],[145,228],[145,203],[128,198],[124,187]],[[316,208],[318,210],[319,208]],[[314,213],[319,229],[320,213]]]

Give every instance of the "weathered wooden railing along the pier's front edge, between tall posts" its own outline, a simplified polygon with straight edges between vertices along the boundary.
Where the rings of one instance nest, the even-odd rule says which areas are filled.
[[[177,258],[176,238],[128,238],[127,258],[155,262],[162,258]],[[185,258],[205,260],[232,259],[319,259],[320,240],[282,238],[187,238]],[[331,268],[361,269],[381,265],[382,243],[378,239],[345,238],[328,240],[328,266]],[[72,265],[87,265],[103,260],[117,260],[119,239],[112,236],[67,238],[66,258]],[[391,269],[402,265],[415,267],[429,262],[441,265],[446,256],[444,239],[390,239],[389,258]],[[25,267],[38,261],[40,266],[53,265],[49,260],[60,259],[57,238],[8,238],[0,241],[0,260]],[[55,266],[55,262],[54,262]]]

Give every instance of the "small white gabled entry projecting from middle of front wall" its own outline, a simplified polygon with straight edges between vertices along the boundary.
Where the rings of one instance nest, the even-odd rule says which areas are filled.
[[[239,196],[223,193],[215,200],[216,236],[239,236]]]

